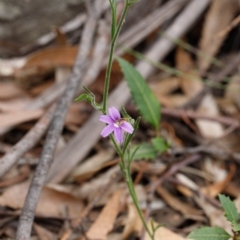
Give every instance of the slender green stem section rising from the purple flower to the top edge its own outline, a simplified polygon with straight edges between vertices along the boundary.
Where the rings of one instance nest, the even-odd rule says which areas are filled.
[[[109,91],[109,84],[110,84],[110,75],[111,75],[111,70],[112,70],[113,53],[114,53],[117,37],[118,37],[119,32],[122,28],[123,21],[124,21],[124,18],[126,16],[126,14],[127,14],[128,8],[129,8],[129,3],[128,3],[128,0],[126,0],[123,13],[121,15],[119,24],[117,26],[117,30],[114,33],[114,36],[113,36],[113,39],[112,39],[112,42],[111,42],[107,71],[106,71],[106,77],[105,77],[105,81],[104,81],[104,92],[103,92],[103,113],[104,114],[106,114],[106,112],[107,112],[107,98],[108,98],[108,91]]]

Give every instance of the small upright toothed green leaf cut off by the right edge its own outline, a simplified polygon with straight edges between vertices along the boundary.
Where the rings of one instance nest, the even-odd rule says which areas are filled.
[[[222,194],[219,194],[218,197],[222,204],[222,208],[224,209],[225,217],[234,226],[238,222],[238,211],[235,203],[229,197]]]

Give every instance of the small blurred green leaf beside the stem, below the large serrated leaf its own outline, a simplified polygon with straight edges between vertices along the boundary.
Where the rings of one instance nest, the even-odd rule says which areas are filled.
[[[142,160],[142,159],[155,159],[158,151],[156,148],[150,144],[150,143],[142,143],[140,145],[136,145],[131,148],[130,152],[131,154],[134,153],[134,151],[138,148],[138,150],[135,152],[133,156],[133,160]]]

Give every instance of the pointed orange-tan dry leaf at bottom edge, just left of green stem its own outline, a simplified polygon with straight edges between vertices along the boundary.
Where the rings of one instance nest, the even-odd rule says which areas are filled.
[[[106,203],[96,221],[87,231],[86,236],[92,240],[106,240],[107,234],[113,229],[120,209],[120,198],[123,190],[118,190]]]

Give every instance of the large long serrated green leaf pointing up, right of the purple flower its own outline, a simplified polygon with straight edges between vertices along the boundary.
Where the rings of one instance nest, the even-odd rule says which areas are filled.
[[[122,58],[117,58],[117,60],[130,88],[133,100],[143,118],[155,129],[158,129],[161,111],[159,101],[141,74],[130,63]]]

